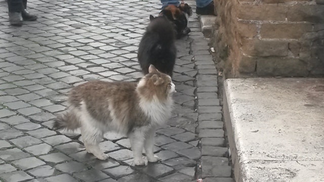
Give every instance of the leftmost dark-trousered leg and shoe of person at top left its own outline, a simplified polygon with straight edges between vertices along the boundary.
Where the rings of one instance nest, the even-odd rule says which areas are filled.
[[[22,0],[8,0],[7,3],[10,24],[14,26],[21,26],[21,12],[24,9]]]

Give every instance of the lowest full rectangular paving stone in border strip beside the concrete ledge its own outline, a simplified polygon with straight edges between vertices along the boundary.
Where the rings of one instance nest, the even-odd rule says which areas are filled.
[[[202,177],[230,177],[232,168],[225,157],[201,157]]]

